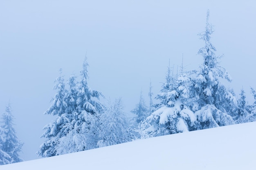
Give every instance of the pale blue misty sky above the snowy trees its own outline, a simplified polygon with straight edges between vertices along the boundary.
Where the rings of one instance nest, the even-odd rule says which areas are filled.
[[[212,42],[220,65],[229,71],[236,94],[256,88],[256,3],[243,1],[0,1],[0,113],[10,100],[18,137],[25,142],[21,157],[37,159],[43,115],[54,97],[58,69],[67,79],[79,75],[87,53],[89,86],[114,100],[122,97],[129,112],[141,88],[148,102],[151,79],[159,93],[169,59],[198,69],[204,43],[206,12],[214,25]]]

